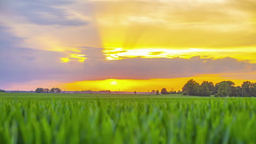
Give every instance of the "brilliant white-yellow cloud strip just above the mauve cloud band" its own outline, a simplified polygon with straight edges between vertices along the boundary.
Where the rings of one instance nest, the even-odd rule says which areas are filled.
[[[191,58],[194,56],[202,56],[204,58],[223,58],[233,57],[238,60],[256,63],[255,48],[240,49],[127,49],[110,48],[103,51],[108,60],[124,59],[124,58]]]

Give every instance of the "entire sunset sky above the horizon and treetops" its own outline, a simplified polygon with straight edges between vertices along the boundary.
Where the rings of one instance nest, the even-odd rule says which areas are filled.
[[[0,89],[256,82],[254,0],[2,0]]]

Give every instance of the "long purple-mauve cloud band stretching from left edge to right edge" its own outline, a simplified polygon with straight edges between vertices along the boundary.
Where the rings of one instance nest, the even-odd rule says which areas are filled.
[[[102,48],[80,46],[87,59],[78,62],[70,59],[60,63],[65,52],[45,51],[20,47],[24,39],[11,34],[7,27],[0,28],[0,79],[9,82],[32,80],[83,81],[103,79],[170,79],[200,74],[249,73],[256,64],[237,61],[235,58],[126,58],[106,61]]]

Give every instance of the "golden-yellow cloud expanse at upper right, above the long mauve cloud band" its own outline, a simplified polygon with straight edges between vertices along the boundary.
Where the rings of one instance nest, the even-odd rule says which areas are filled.
[[[109,60],[199,55],[256,61],[254,1],[92,3],[95,4],[95,20]]]

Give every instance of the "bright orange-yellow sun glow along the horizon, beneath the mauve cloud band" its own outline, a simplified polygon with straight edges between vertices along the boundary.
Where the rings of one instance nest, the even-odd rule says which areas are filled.
[[[167,88],[168,91],[173,89],[174,91],[181,90],[186,83],[190,79],[194,79],[197,82],[201,83],[202,81],[208,80],[213,83],[218,83],[221,81],[233,81],[237,86],[240,86],[243,81],[246,81],[242,76],[248,75],[248,77],[253,77],[256,74],[252,73],[244,73],[244,74],[236,74],[236,73],[226,73],[226,74],[208,74],[208,75],[196,75],[193,77],[178,77],[173,79],[149,79],[149,80],[133,80],[133,79],[107,79],[107,80],[95,80],[95,81],[77,81],[74,83],[65,83],[61,87],[65,87],[69,91],[79,91],[81,89],[88,90],[92,88],[94,91],[101,90],[110,90],[110,91],[140,91],[140,92],[148,92],[154,90],[161,90],[161,88]],[[249,79],[248,79],[249,80]],[[251,81],[251,80],[249,80]],[[252,80],[253,82],[255,80]]]

